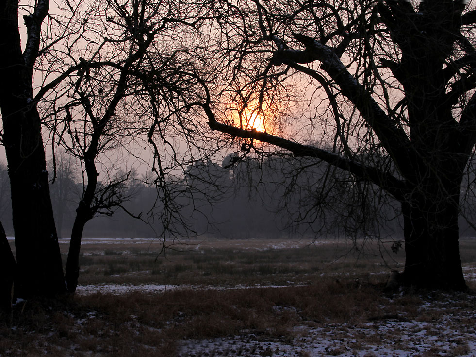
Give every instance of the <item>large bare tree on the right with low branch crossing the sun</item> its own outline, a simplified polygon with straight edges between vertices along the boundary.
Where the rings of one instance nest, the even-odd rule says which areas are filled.
[[[472,5],[221,3],[231,80],[202,103],[210,128],[245,139],[245,150],[270,144],[323,160],[347,171],[350,187],[370,183],[363,197],[379,187],[401,204],[405,283],[465,289],[458,216],[476,140]],[[259,113],[265,125],[250,128],[220,102]]]

